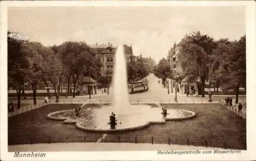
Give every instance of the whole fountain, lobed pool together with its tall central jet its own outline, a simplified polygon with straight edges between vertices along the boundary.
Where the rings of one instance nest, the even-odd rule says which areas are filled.
[[[65,110],[51,113],[48,118],[76,124],[81,130],[105,132],[137,129],[153,123],[189,119],[196,115],[192,111],[182,109],[168,109],[167,112],[167,109],[158,103],[157,108],[146,104],[130,104],[123,46],[118,46],[116,51],[113,85],[113,104],[82,109],[86,104],[84,103],[79,109],[79,115],[77,110]]]

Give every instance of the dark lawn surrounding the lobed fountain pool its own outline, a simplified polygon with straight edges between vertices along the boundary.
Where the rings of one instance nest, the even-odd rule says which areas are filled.
[[[149,127],[108,133],[103,142],[189,144],[246,149],[246,120],[218,104],[165,104],[167,108],[191,110],[196,118],[169,121]],[[74,109],[78,104],[49,104],[8,119],[8,144],[96,142],[102,133],[78,130],[75,125],[47,120],[46,115]],[[87,108],[92,106],[87,104]],[[85,136],[85,137],[84,137]],[[50,137],[50,138],[49,138]],[[152,138],[153,137],[153,138]]]

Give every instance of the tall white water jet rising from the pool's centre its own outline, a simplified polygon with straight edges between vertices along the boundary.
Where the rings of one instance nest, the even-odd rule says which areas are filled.
[[[113,76],[114,113],[125,115],[129,109],[129,93],[127,87],[127,69],[123,45],[117,47]]]

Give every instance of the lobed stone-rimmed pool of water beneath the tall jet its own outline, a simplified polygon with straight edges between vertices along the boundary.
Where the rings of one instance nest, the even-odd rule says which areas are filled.
[[[116,114],[116,129],[110,129],[110,115]],[[129,105],[129,108],[122,109],[118,113],[112,105],[101,108],[82,109],[80,117],[75,117],[75,110],[57,111],[48,115],[49,119],[61,120],[63,123],[74,123],[76,127],[87,131],[120,131],[145,127],[153,123],[164,123],[170,120],[184,120],[194,117],[193,111],[183,109],[167,109],[167,116],[163,117],[161,108],[152,108],[150,105],[136,104]]]

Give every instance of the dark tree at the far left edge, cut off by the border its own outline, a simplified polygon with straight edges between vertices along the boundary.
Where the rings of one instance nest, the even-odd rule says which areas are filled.
[[[16,39],[8,31],[8,88],[16,89],[17,108],[20,108],[20,93],[26,81],[27,70],[29,68],[28,53],[20,52],[22,45],[26,43],[22,39]]]

